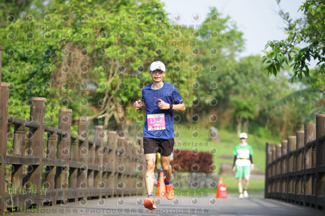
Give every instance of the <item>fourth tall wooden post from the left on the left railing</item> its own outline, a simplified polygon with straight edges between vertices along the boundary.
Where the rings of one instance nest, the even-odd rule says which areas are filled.
[[[79,142],[78,155],[81,166],[77,176],[77,187],[79,187],[78,198],[86,198],[86,190],[88,187],[87,183],[87,172],[88,172],[88,154],[89,154],[89,118],[80,117],[78,118],[78,135],[83,137],[85,140]]]

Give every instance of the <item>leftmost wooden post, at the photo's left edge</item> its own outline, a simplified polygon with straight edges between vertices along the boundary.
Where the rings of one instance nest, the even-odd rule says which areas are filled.
[[[2,46],[0,46],[0,61],[1,61],[1,51]],[[1,62],[0,62],[1,67]],[[1,72],[1,68],[0,68]],[[1,74],[1,73],[0,73]],[[1,77],[1,75],[0,75]],[[0,79],[1,82],[1,79]],[[5,199],[5,170],[6,170],[6,148],[7,148],[7,117],[8,117],[8,99],[9,99],[9,83],[1,83],[1,92],[0,92],[0,154],[2,155],[2,158],[0,158],[0,184],[2,187],[0,187],[0,196]],[[5,210],[5,203],[3,200],[0,200],[0,208],[1,212],[4,213]]]

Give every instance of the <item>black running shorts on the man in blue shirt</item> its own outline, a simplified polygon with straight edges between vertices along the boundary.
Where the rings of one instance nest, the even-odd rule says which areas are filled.
[[[161,156],[168,157],[172,154],[174,148],[174,138],[148,138],[143,137],[144,154],[160,153]]]

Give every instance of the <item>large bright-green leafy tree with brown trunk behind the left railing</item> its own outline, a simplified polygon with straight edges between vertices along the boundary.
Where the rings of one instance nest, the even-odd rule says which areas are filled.
[[[181,93],[192,91],[185,85],[192,78],[178,79],[191,65],[183,62],[178,64],[181,71],[174,68],[191,51],[190,45],[179,43],[189,41],[193,29],[171,26],[159,1],[52,0],[39,9],[30,12],[35,16],[28,22],[29,14],[17,12],[21,18],[0,29],[6,51],[3,80],[15,86],[10,115],[25,118],[24,101],[43,96],[51,101],[52,117],[64,107],[73,109],[74,123],[85,115],[107,126],[113,118],[124,130],[137,117],[128,107],[151,82],[153,60],[165,62],[167,82],[181,85]],[[176,48],[182,52],[174,53]]]

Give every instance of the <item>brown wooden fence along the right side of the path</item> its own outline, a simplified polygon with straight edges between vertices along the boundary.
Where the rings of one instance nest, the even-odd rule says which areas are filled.
[[[325,209],[325,115],[266,152],[265,198]]]

